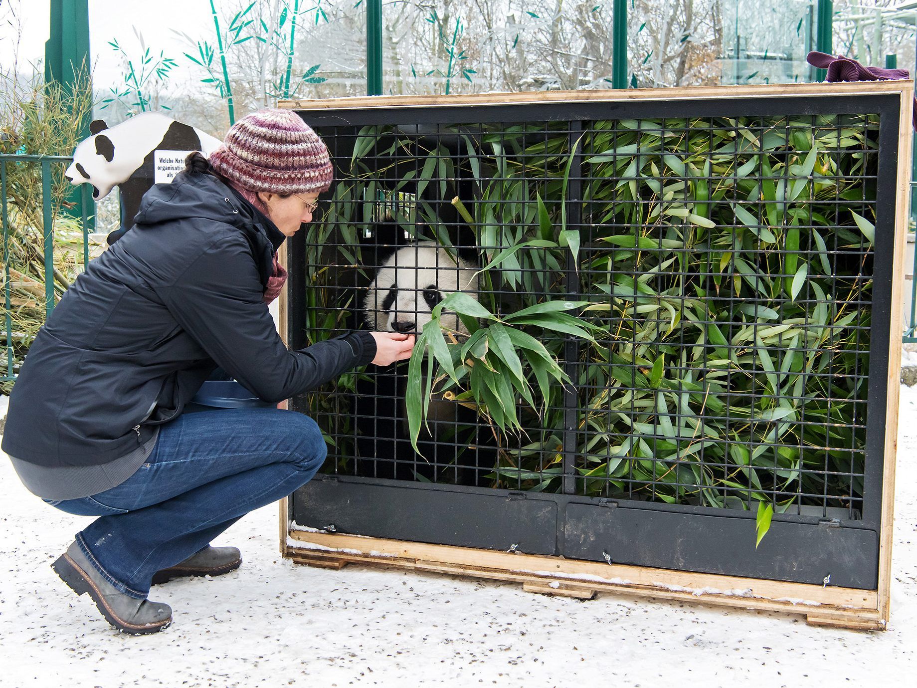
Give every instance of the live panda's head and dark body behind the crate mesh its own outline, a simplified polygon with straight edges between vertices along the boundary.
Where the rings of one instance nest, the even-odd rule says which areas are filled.
[[[453,258],[432,241],[392,253],[384,261],[363,301],[363,315],[377,332],[420,333],[433,308],[447,294],[463,291],[477,298],[476,268]],[[451,311],[440,322],[465,335],[468,329]],[[430,399],[427,426],[421,427],[418,456],[411,446],[404,395],[408,361],[360,376],[354,395],[357,424],[356,474],[362,477],[489,486],[496,453],[490,427],[465,405]],[[490,438],[488,440],[488,438]]]

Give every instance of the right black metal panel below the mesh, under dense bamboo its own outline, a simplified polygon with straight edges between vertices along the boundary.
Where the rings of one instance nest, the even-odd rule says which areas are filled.
[[[712,556],[719,552],[718,556]],[[570,504],[564,555],[660,569],[875,590],[878,535],[837,524],[774,521],[755,549],[755,521],[623,506]]]

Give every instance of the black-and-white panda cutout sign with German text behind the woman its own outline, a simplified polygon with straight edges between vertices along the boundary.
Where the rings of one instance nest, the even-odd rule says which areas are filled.
[[[108,235],[109,244],[133,227],[140,199],[150,186],[171,182],[194,150],[209,156],[222,143],[160,112],[145,112],[114,127],[96,119],[89,130],[92,136],[73,151],[65,175],[72,184],[92,184],[96,201],[120,188],[121,228]]]

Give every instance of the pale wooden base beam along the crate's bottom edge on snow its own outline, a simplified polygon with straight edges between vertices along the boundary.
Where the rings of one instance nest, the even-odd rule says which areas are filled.
[[[813,626],[881,630],[886,625],[876,591],[364,538],[289,529],[289,523],[282,504],[283,556],[325,569],[370,564],[522,583],[525,591],[563,597],[617,593],[800,614]]]

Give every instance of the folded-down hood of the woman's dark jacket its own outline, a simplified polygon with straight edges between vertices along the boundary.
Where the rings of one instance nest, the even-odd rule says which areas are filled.
[[[201,218],[241,229],[253,246],[267,241],[271,252],[280,248],[283,236],[268,216],[251,205],[232,187],[212,174],[180,172],[171,183],[154,184],[140,201],[136,224]]]

